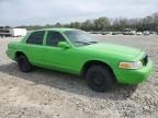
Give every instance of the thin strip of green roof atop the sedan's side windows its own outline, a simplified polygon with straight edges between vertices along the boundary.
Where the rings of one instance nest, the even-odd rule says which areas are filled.
[[[57,27],[57,28],[43,28],[43,30],[35,30],[35,31],[30,31],[30,32],[37,32],[37,31],[56,31],[56,32],[66,32],[66,31],[78,31],[76,28],[63,28],[63,27]]]

